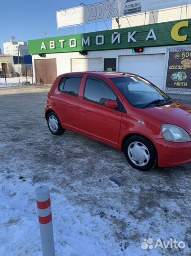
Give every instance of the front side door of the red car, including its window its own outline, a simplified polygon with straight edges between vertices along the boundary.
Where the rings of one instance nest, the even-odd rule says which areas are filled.
[[[106,108],[107,100],[117,101],[118,108]],[[110,85],[96,76],[88,75],[83,98],[79,102],[80,133],[117,147],[122,109],[122,102]]]

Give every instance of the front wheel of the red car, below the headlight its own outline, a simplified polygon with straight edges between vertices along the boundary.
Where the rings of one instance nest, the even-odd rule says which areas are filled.
[[[143,136],[129,137],[124,145],[124,154],[129,164],[139,171],[148,171],[157,165],[156,149]]]

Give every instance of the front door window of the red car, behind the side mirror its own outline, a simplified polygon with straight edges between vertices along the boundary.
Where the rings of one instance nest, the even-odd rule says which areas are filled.
[[[108,100],[116,101],[117,95],[104,81],[87,78],[84,100],[104,106]]]

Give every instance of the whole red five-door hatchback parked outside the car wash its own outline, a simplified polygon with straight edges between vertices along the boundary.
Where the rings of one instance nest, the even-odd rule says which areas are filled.
[[[54,135],[67,129],[113,146],[141,171],[191,162],[191,108],[132,73],[58,76],[45,118]]]

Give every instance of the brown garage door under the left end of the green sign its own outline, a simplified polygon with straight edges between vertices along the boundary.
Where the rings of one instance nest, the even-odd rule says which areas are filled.
[[[57,77],[56,59],[35,60],[36,82],[52,84]]]

